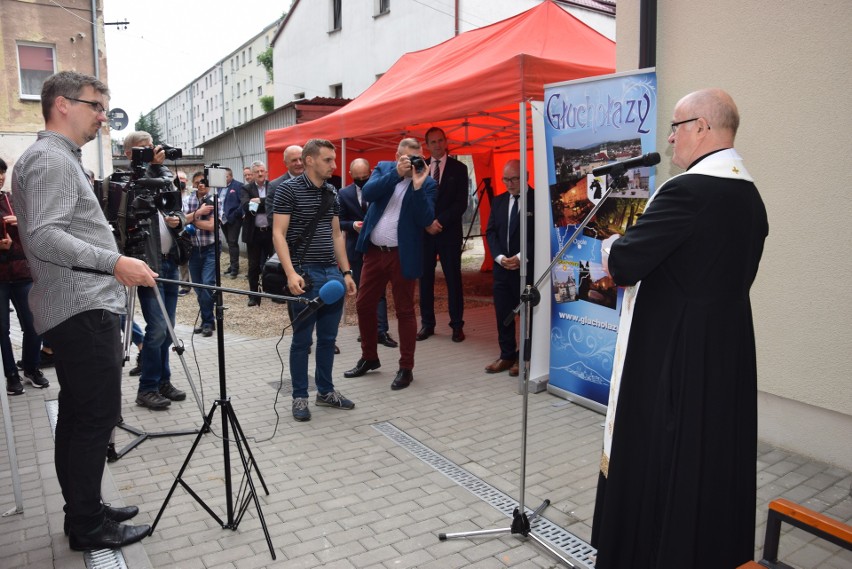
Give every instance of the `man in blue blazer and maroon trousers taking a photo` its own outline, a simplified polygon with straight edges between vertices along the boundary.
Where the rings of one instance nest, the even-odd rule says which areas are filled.
[[[412,160],[419,168],[412,166]],[[361,359],[344,372],[344,377],[360,377],[381,367],[376,308],[390,282],[399,321],[400,352],[399,371],[391,389],[405,389],[414,379],[414,285],[423,271],[423,230],[435,219],[435,188],[420,143],[414,138],[402,139],[396,162],[379,162],[364,184],[362,195],[370,207],[356,246],[364,254],[356,302]]]

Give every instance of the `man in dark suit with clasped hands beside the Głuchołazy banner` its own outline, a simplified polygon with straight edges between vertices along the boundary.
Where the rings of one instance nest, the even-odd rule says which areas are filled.
[[[518,343],[515,340],[515,320],[506,318],[521,302],[521,189],[526,187],[527,176],[521,180],[521,163],[509,160],[503,168],[506,193],[494,198],[488,226],[485,230],[488,248],[494,258],[494,313],[497,316],[497,341],[500,357],[485,366],[486,373],[509,370],[518,375]],[[533,256],[533,193],[527,192],[527,283],[532,283]]]

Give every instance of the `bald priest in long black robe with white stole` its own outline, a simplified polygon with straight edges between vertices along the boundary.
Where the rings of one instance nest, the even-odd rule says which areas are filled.
[[[749,289],[766,209],[719,89],[674,110],[665,182],[605,266],[625,286],[592,545],[597,569],[753,558],[757,366]]]

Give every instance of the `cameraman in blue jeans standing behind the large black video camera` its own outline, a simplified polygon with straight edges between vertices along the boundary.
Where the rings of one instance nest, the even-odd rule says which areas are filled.
[[[134,175],[138,175],[139,179],[160,179],[169,182],[173,180],[171,171],[163,165],[166,151],[161,146],[154,147],[154,140],[150,134],[137,131],[125,136],[124,154],[131,161],[134,148],[152,149],[153,152],[150,162],[134,164],[137,170]],[[177,203],[180,203],[179,199]],[[175,232],[181,230],[185,223],[186,220],[180,210],[163,212],[158,209],[150,220],[148,236],[144,244],[144,260],[164,279],[177,280],[178,278]],[[157,288],[163,298],[171,325],[174,326],[178,286],[157,283]],[[171,382],[169,352],[172,338],[163,311],[157,302],[157,296],[152,288],[140,287],[136,289],[136,292],[139,295],[142,317],[145,319],[145,336],[141,351],[142,371],[139,374],[136,404],[157,411],[166,409],[172,401],[183,401],[186,399],[186,393],[176,388]]]

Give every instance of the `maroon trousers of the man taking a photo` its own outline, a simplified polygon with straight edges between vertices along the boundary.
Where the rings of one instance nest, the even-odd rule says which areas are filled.
[[[402,276],[399,249],[379,248],[370,245],[364,254],[361,282],[355,307],[358,311],[358,329],[361,332],[361,357],[379,359],[378,317],[376,307],[391,283],[393,304],[399,323],[399,367],[414,369],[414,345],[417,342],[417,318],[414,314],[414,286],[417,280]]]

